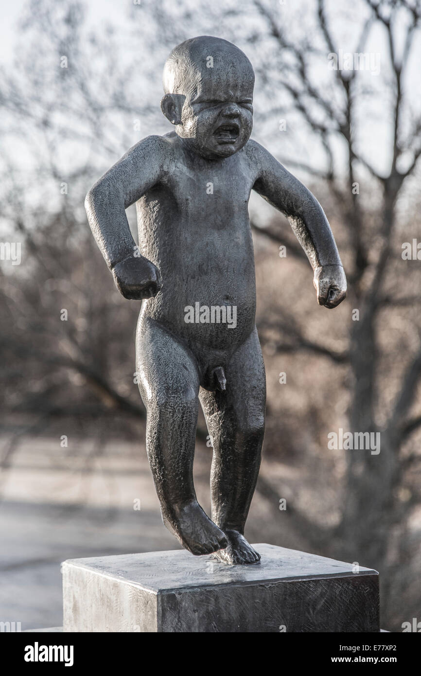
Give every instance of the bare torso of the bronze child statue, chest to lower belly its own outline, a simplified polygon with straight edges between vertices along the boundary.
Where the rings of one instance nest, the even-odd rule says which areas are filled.
[[[143,314],[189,343],[235,349],[255,322],[255,269],[248,201],[254,183],[247,153],[199,162],[176,147],[174,169],[137,202],[139,247],[162,276]],[[235,306],[237,327],[184,321],[185,308]],[[196,317],[197,317],[197,313]],[[216,315],[218,316],[218,311]]]

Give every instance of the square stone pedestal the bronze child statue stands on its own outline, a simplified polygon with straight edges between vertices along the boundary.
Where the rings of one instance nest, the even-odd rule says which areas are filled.
[[[65,561],[63,631],[380,631],[376,571],[253,547],[248,566],[184,550]]]

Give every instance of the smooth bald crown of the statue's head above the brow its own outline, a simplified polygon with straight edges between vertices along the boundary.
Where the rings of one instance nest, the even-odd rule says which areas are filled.
[[[164,66],[165,93],[193,95],[208,79],[219,87],[237,80],[253,88],[253,67],[241,49],[221,38],[201,35],[174,47]]]

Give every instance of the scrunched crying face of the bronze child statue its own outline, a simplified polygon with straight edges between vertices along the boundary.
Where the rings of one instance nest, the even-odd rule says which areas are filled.
[[[218,69],[221,70],[221,69]],[[253,77],[250,70],[204,69],[182,106],[177,134],[205,158],[228,158],[249,140],[253,128]]]

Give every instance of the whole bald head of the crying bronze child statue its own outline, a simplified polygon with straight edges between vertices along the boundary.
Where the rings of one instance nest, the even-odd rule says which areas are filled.
[[[202,35],[170,53],[161,110],[184,145],[205,158],[227,158],[250,137],[253,87],[253,68],[241,49]]]

